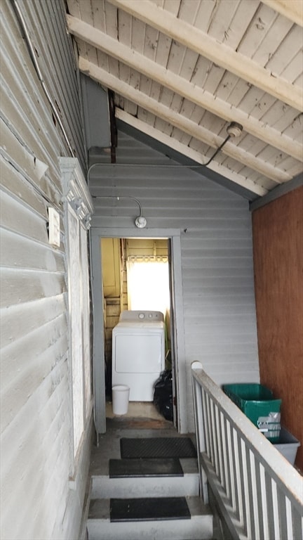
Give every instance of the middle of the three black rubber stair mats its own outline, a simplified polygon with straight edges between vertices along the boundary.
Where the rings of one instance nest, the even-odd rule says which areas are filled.
[[[109,478],[184,476],[177,458],[110,459]]]

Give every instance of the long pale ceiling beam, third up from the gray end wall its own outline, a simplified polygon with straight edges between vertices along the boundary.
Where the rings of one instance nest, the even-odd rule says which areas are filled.
[[[84,23],[82,20],[67,15],[67,27],[71,34],[86,41],[91,46],[104,51],[113,58],[121,60],[124,64],[142,73],[146,77],[153,79],[166,88],[183,96],[192,103],[210,111],[214,115],[223,118],[227,122],[238,122],[242,124],[245,131],[261,139],[264,143],[274,146],[282,152],[291,155],[296,160],[303,161],[302,146],[297,142],[284,136],[280,131],[270,127],[264,122],[257,120],[253,116],[247,115],[241,109],[226,103],[220,98],[215,98],[208,91],[203,91],[195,84],[188,82],[184,77],[169,72],[163,66],[155,63],[146,56],[123,45],[116,39],[110,37],[105,32]]]

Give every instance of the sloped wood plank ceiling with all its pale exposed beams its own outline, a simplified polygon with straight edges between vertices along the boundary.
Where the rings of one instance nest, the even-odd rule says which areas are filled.
[[[67,0],[116,117],[257,196],[302,173],[302,0]]]

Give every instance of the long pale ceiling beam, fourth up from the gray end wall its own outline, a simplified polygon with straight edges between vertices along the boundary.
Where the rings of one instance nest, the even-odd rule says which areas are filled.
[[[303,91],[299,86],[272,74],[262,65],[247,56],[237,53],[231,47],[210,37],[198,28],[180,20],[173,13],[160,8],[150,0],[108,0],[110,4],[126,11],[159,32],[175,39],[192,51],[220,65],[224,70],[234,73],[271,96],[291,107],[303,110]]]

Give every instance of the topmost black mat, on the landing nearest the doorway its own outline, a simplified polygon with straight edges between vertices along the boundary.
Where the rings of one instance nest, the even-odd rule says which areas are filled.
[[[196,458],[189,437],[150,437],[120,439],[121,458]]]

